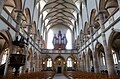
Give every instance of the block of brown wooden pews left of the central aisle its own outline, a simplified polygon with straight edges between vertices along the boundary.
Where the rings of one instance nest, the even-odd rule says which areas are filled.
[[[54,71],[40,71],[40,72],[22,73],[17,77],[14,77],[13,74],[9,74],[3,79],[52,79],[54,75],[55,75]]]

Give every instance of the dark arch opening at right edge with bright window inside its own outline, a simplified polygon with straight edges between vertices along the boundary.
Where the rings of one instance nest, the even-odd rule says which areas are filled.
[[[120,69],[120,32],[113,31],[109,37],[109,49],[113,56],[116,71]]]

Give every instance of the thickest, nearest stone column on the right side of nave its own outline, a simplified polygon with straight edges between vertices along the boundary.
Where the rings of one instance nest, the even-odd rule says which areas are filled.
[[[104,52],[105,52],[105,59],[106,59],[106,64],[107,64],[107,70],[108,70],[108,74],[109,75],[116,75],[114,62],[113,62],[113,56],[112,56],[112,53],[111,53],[110,49],[108,48],[106,36],[105,36],[105,33],[103,32],[104,29],[105,29],[105,26],[103,25],[103,22],[104,22],[104,12],[105,11],[103,11],[103,10],[101,10],[99,12],[99,21],[100,21],[100,27],[101,27],[101,31],[102,31],[101,36],[102,36],[103,47],[104,47]]]

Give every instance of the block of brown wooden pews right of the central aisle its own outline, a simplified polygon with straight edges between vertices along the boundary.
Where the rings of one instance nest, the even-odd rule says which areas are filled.
[[[120,75],[108,76],[107,74],[81,71],[66,71],[64,75],[69,79],[120,79]]]

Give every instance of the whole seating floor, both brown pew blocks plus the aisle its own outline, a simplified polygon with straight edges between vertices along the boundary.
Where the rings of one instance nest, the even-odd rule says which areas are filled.
[[[9,74],[0,79],[120,79],[118,75],[108,75],[108,73],[94,73],[83,71],[65,71],[57,73],[55,71],[40,71],[18,74]]]

